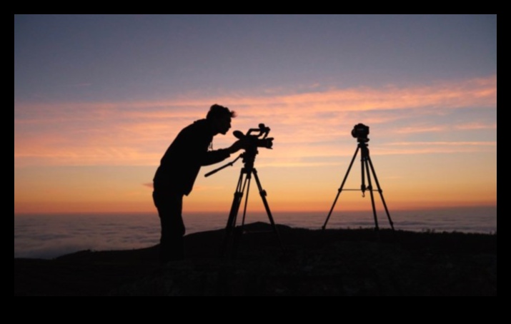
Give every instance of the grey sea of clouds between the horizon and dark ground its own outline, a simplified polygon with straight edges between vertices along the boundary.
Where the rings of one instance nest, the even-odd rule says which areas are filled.
[[[320,229],[327,213],[274,213],[277,224]],[[496,233],[496,207],[443,208],[390,213],[396,230]],[[239,215],[241,222],[242,214]],[[248,213],[246,223],[264,221],[265,213]],[[390,228],[385,211],[377,212],[379,228]],[[224,228],[227,214],[184,214],[187,234]],[[327,228],[374,228],[372,211],[334,212]],[[154,213],[14,216],[14,258],[56,258],[79,250],[129,250],[159,243]]]

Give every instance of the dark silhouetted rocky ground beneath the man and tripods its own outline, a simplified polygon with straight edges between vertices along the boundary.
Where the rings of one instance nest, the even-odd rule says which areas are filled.
[[[237,258],[224,231],[185,237],[187,259],[157,246],[14,259],[14,295],[497,295],[497,234],[245,226]],[[231,245],[229,245],[231,246]]]

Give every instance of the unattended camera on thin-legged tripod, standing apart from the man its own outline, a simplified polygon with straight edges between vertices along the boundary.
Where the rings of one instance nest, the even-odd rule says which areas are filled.
[[[379,186],[379,181],[376,176],[376,172],[374,172],[374,166],[372,165],[371,157],[369,156],[369,148],[367,148],[369,141],[369,138],[367,138],[367,135],[369,134],[369,126],[365,126],[363,123],[358,123],[354,126],[352,130],[352,136],[354,138],[357,138],[357,149],[355,150],[355,153],[353,155],[351,163],[349,163],[349,167],[346,171],[346,175],[344,176],[344,179],[342,180],[341,186],[339,190],[337,191],[337,196],[335,196],[334,203],[332,204],[332,208],[330,208],[330,211],[328,213],[326,221],[324,221],[322,229],[324,230],[327,227],[327,223],[330,219],[330,216],[332,215],[332,211],[334,210],[334,206],[337,203],[337,199],[339,198],[339,195],[341,192],[344,191],[362,191],[362,197],[364,197],[365,191],[369,191],[371,195],[371,203],[372,203],[372,213],[374,216],[374,229],[375,231],[379,231],[378,227],[378,219],[376,216],[376,208],[374,205],[374,191],[378,191],[379,196],[382,198],[383,206],[385,207],[385,213],[387,213],[387,218],[390,223],[390,227],[392,228],[392,231],[394,230],[394,223],[392,223],[392,219],[390,218],[389,209],[387,208],[387,203],[385,203],[385,198],[383,198],[382,188]],[[362,185],[360,186],[360,189],[344,189],[344,183],[346,183],[346,179],[348,178],[349,171],[351,170],[353,166],[353,161],[357,157],[357,153],[361,152],[360,157],[360,163],[362,167]],[[371,180],[371,174],[374,178],[374,182],[376,183],[377,189],[372,188],[372,180]],[[367,183],[368,186],[365,185],[365,176],[367,176]]]

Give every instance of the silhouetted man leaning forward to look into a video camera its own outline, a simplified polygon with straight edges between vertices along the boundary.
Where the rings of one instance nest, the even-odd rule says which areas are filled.
[[[242,148],[241,142],[236,141],[229,148],[208,151],[213,136],[225,135],[235,116],[229,108],[214,104],[205,119],[194,121],[179,132],[160,161],[153,179],[154,205],[162,223],[160,262],[184,258],[183,196],[192,191],[201,166],[224,161]]]

